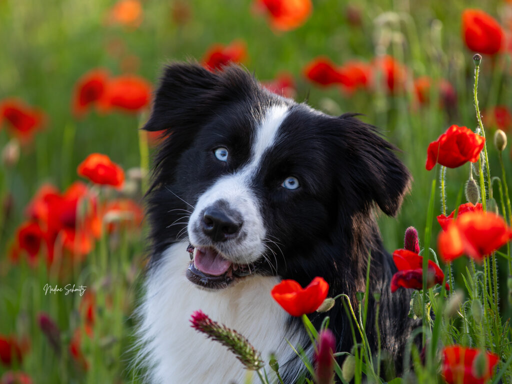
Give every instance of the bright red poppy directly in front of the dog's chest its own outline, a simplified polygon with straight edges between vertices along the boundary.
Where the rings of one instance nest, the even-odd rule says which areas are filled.
[[[319,277],[302,288],[295,280],[283,280],[270,292],[276,302],[292,316],[312,313],[324,302],[329,284]]]

